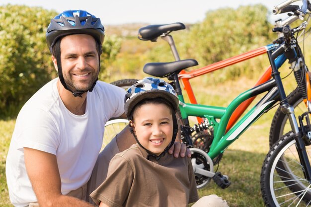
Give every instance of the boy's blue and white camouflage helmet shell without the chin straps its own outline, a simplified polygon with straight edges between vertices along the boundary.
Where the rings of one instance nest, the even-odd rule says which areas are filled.
[[[173,107],[174,112],[178,109],[179,100],[174,88],[162,79],[145,77],[132,85],[125,95],[124,111],[130,119],[133,108],[144,99],[164,98]]]

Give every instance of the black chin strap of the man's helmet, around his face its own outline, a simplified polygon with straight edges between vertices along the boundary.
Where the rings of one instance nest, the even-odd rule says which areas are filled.
[[[55,43],[55,51],[56,51],[56,61],[57,61],[57,69],[58,69],[58,76],[60,78],[60,81],[62,83],[62,85],[64,86],[64,88],[66,90],[69,90],[75,97],[80,97],[82,98],[82,94],[87,92],[87,90],[83,91],[83,90],[75,90],[73,91],[72,89],[70,89],[64,79],[64,76],[63,76],[63,70],[62,70],[62,62],[61,62],[61,41],[58,40],[56,43]],[[100,70],[100,61],[99,61],[99,70]],[[88,89],[88,91],[92,91],[93,88],[95,87],[96,85],[96,82],[98,80],[98,77],[96,78],[96,80],[94,81],[94,83],[92,84],[91,88]]]

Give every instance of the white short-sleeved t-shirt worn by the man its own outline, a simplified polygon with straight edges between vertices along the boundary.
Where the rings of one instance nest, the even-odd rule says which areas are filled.
[[[51,80],[37,91],[16,119],[6,158],[9,196],[16,207],[37,202],[25,169],[23,147],[56,155],[62,194],[66,195],[89,180],[101,148],[105,123],[124,113],[125,90],[97,81],[93,91],[87,92],[85,114],[77,116],[62,102],[57,80]]]

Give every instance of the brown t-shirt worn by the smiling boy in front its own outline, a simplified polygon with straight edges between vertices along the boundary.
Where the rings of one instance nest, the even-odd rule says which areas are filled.
[[[116,154],[106,180],[90,197],[109,207],[187,207],[199,199],[190,158],[146,157],[138,144]]]

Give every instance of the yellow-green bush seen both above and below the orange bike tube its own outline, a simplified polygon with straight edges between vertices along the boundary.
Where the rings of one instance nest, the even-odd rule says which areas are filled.
[[[187,58],[206,66],[272,43],[272,27],[268,10],[262,4],[208,11],[201,23],[190,28],[183,49]],[[268,65],[266,56],[260,56],[209,74],[207,81],[224,81],[242,74],[252,76]]]

